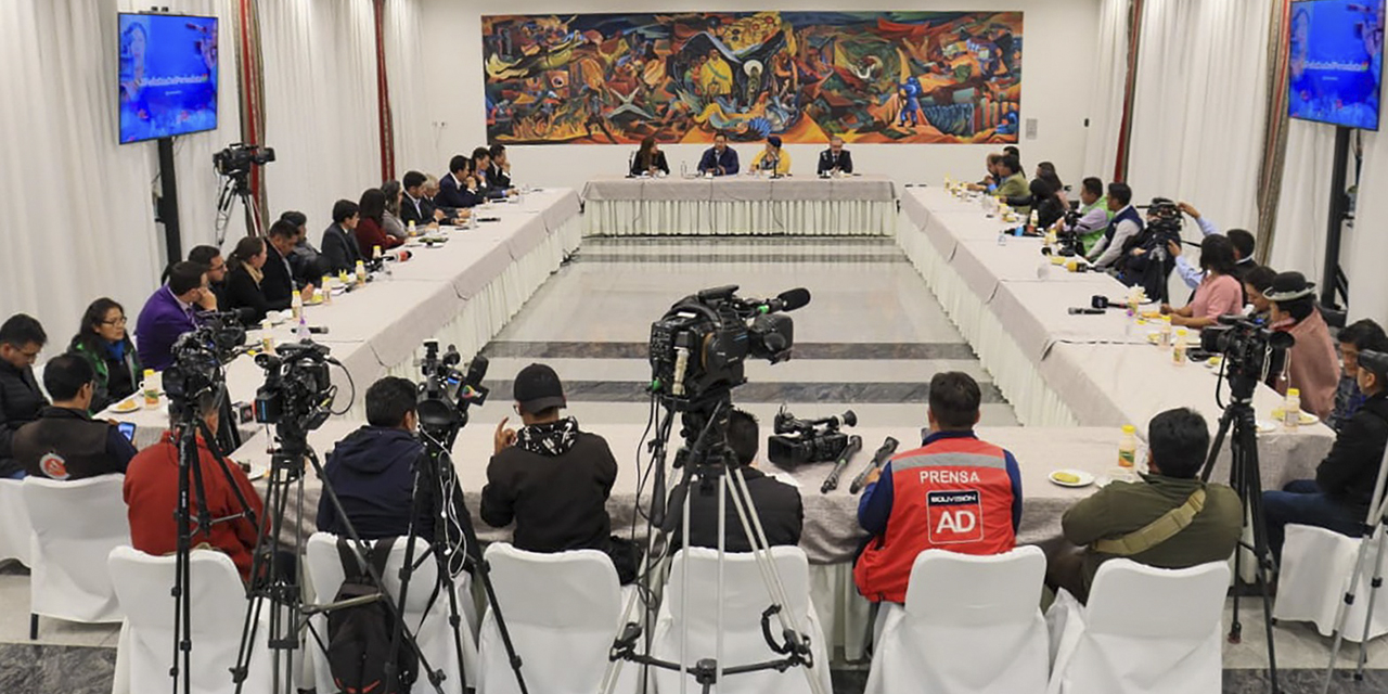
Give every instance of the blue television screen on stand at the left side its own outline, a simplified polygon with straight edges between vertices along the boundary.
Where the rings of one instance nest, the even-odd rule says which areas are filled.
[[[217,128],[217,18],[121,14],[121,142]]]

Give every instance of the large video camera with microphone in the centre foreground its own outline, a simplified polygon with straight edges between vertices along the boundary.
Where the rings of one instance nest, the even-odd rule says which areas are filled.
[[[690,411],[747,382],[747,357],[772,364],[791,355],[795,326],[781,311],[809,303],[809,290],[776,298],[741,298],[737,286],[705,289],[679,300],[651,323],[651,391],[666,407]]]

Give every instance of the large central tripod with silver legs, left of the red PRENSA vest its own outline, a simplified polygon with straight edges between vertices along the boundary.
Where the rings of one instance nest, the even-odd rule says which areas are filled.
[[[662,489],[663,473],[659,466],[663,465],[663,439],[668,439],[670,430],[670,422],[673,416],[673,407],[666,415],[661,430],[657,433],[657,439],[652,441],[652,452],[655,459],[652,465],[657,465],[655,477],[657,483],[652,489],[652,514],[651,525],[648,529],[648,541],[654,544],[654,534],[661,532],[663,534],[669,533],[669,529],[661,527],[663,518],[663,504],[657,502],[663,497],[665,490]],[[636,601],[638,600],[638,593],[633,593],[627,607],[623,612],[623,623],[626,625],[622,634],[612,644],[611,655],[612,663],[608,665],[607,672],[602,677],[601,691],[604,694],[612,694],[618,684],[618,679],[622,672],[622,662],[630,661],[641,666],[641,686],[647,684],[647,668],[659,668],[665,670],[673,670],[682,675],[680,677],[680,693],[683,694],[688,687],[688,677],[683,675],[690,675],[694,677],[695,684],[701,688],[704,694],[712,691],[725,676],[745,675],[752,672],[763,670],[777,670],[784,672],[788,668],[801,666],[804,668],[805,677],[809,683],[809,688],[815,694],[827,694],[823,691],[823,684],[818,679],[813,662],[813,654],[811,650],[811,638],[808,636],[808,620],[806,615],[787,615],[786,605],[790,604],[786,593],[786,586],[781,582],[780,573],[776,569],[775,559],[770,554],[770,545],[766,541],[766,532],[762,527],[761,518],[756,515],[756,508],[752,505],[752,496],[747,489],[747,480],[743,476],[736,454],[727,446],[727,416],[731,409],[731,400],[725,391],[722,396],[715,398],[711,405],[700,407],[687,411],[684,415],[684,437],[686,447],[676,454],[676,466],[683,466],[684,475],[683,480],[676,486],[676,496],[683,496],[682,514],[680,514],[680,547],[690,547],[690,507],[693,505],[688,498],[691,490],[697,486],[702,489],[712,489],[716,486],[718,493],[718,604],[723,604],[725,584],[723,584],[723,570],[722,564],[726,555],[726,541],[727,541],[727,520],[726,520],[726,502],[729,498],[733,500],[733,509],[737,512],[738,522],[743,527],[743,533],[751,544],[751,554],[756,562],[758,572],[761,573],[762,583],[766,587],[768,594],[772,598],[772,605],[762,612],[762,634],[766,638],[766,644],[777,655],[784,658],[777,658],[765,662],[756,662],[750,665],[737,665],[725,668],[723,666],[723,611],[718,612],[716,625],[716,645],[713,658],[698,658],[693,665],[688,658],[688,622],[686,620],[682,626],[680,633],[680,658],[679,662],[662,661],[650,655],[650,636],[645,638],[645,654],[637,652],[637,641],[643,638],[643,633],[648,633],[648,629],[643,632],[643,626],[636,622],[629,622],[632,611],[634,609]],[[731,491],[731,494],[729,494]],[[695,491],[698,493],[698,491]],[[668,539],[666,539],[668,540]],[[645,577],[648,582],[657,580],[654,566],[657,559],[647,554]],[[682,612],[688,613],[688,570],[690,562],[683,564],[683,580],[686,590],[682,595]],[[648,593],[654,593],[651,586],[647,586]],[[651,611],[654,605],[645,607],[645,625],[651,622]],[[779,622],[784,641],[776,643],[772,636],[770,620],[775,618]],[[820,666],[827,666],[827,663],[820,663]]]

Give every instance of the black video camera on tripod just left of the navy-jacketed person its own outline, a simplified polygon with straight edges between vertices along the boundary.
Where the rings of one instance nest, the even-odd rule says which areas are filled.
[[[255,390],[255,421],[297,433],[322,426],[337,394],[329,364],[335,362],[328,357],[328,346],[308,340],[279,344],[275,354],[255,355],[255,365],[265,369],[265,383]]]

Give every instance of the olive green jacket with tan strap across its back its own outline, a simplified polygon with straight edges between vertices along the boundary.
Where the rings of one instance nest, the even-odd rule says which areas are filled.
[[[1205,509],[1191,525],[1156,547],[1127,557],[1162,569],[1184,569],[1228,559],[1244,529],[1244,505],[1224,484],[1198,479],[1144,475],[1144,482],[1113,482],[1080,501],[1060,519],[1065,539],[1077,545],[1095,540],[1116,540],[1138,530],[1166,512],[1185,504],[1196,489],[1205,489]],[[1099,565],[1113,555],[1090,550],[1084,557],[1084,590],[1088,593]]]

